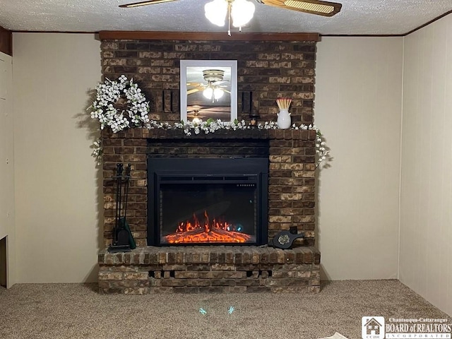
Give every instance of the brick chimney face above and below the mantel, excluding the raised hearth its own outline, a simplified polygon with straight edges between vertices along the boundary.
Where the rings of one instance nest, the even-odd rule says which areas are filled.
[[[254,93],[254,109],[261,120],[276,120],[275,99],[292,97],[292,121],[311,124],[314,101],[315,42],[206,42],[183,40],[104,40],[102,41],[102,71],[110,79],[121,74],[133,78],[150,100],[150,119],[179,121],[179,112],[162,112],[163,90],[179,90],[180,59],[232,59],[238,64],[238,97],[242,91]],[[169,95],[165,107],[169,107]],[[178,107],[179,95],[173,95],[173,107]],[[249,119],[241,114],[239,119]],[[158,153],[162,139],[198,138],[200,143],[215,138],[237,139],[243,155],[252,153],[253,139],[269,142],[269,237],[279,230],[297,226],[314,244],[314,170],[315,132],[301,130],[218,131],[210,135],[184,136],[182,131],[131,129],[117,134],[102,133],[104,145],[105,244],[109,245],[114,225],[114,169],[117,162],[131,163],[127,219],[138,246],[146,246],[147,179],[146,157]],[[155,145],[148,147],[149,142]],[[179,142],[179,141],[178,141]],[[201,144],[200,144],[201,145]],[[203,147],[206,145],[204,144]],[[212,148],[208,146],[206,154]],[[256,153],[262,149],[256,145]]]

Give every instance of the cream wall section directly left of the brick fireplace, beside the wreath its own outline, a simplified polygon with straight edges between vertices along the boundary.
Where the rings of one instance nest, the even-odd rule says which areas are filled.
[[[102,203],[88,90],[101,79],[93,34],[13,33],[18,282],[97,280]]]

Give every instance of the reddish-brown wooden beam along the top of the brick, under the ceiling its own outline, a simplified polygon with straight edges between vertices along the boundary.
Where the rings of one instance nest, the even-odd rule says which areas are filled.
[[[100,40],[320,41],[319,33],[149,32],[102,30]]]

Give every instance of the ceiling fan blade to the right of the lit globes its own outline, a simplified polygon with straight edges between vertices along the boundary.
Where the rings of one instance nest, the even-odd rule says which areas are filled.
[[[334,16],[340,12],[342,4],[320,0],[256,0],[261,4],[292,9],[303,13],[316,14],[318,16]]]

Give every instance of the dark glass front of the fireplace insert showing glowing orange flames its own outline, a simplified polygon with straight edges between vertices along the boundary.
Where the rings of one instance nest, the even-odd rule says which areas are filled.
[[[255,243],[256,184],[234,181],[160,184],[160,242]]]

